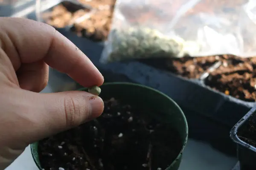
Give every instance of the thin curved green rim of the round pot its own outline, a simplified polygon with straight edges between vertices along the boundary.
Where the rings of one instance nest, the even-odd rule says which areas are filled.
[[[158,94],[161,94],[162,96],[166,97],[167,99],[169,99],[177,108],[178,110],[180,111],[182,117],[183,117],[183,121],[184,121],[184,124],[185,124],[185,131],[186,131],[186,137],[185,137],[185,141],[184,141],[184,144],[180,150],[180,153],[177,155],[176,159],[172,162],[172,164],[170,164],[168,167],[166,167],[166,170],[168,170],[169,167],[172,167],[172,165],[174,165],[176,163],[176,161],[178,159],[180,159],[180,157],[182,156],[182,153],[184,151],[184,148],[186,146],[186,143],[188,141],[188,131],[189,131],[189,128],[188,128],[188,123],[187,123],[187,120],[186,120],[186,116],[185,114],[183,113],[183,111],[181,110],[180,106],[177,105],[177,103],[172,99],[170,98],[169,96],[167,96],[166,94],[164,94],[163,92],[161,91],[158,91],[157,89],[154,89],[154,88],[151,88],[151,87],[148,87],[146,85],[141,85],[141,84],[137,84],[137,83],[131,83],[131,82],[106,82],[106,83],[103,83],[101,86],[104,86],[104,85],[131,85],[131,86],[138,86],[138,87],[141,87],[141,88],[146,88],[148,90],[151,90],[151,91],[154,91]],[[101,87],[99,86],[99,87]],[[79,88],[77,89],[76,91],[86,91],[88,88]],[[38,161],[36,160],[35,158],[35,155],[36,153],[34,152],[34,149],[33,149],[33,145],[36,144],[38,142],[35,142],[35,143],[32,143],[30,144],[30,150],[31,150],[31,153],[32,153],[32,157],[33,157],[33,160],[36,164],[36,166],[39,168],[39,170],[42,170],[41,166],[39,165]]]

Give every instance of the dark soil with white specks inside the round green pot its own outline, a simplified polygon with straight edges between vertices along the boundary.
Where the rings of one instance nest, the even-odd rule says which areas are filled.
[[[164,170],[178,156],[182,142],[177,131],[157,122],[151,112],[109,99],[98,119],[41,140],[41,166],[45,170]]]

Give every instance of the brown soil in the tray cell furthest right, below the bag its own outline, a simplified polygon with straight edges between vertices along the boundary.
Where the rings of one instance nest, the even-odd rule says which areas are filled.
[[[238,99],[256,101],[254,58],[230,57],[205,80],[209,87]]]

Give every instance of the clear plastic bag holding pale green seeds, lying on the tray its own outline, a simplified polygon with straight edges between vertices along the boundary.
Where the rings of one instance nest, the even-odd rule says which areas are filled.
[[[101,62],[256,56],[256,0],[117,0]]]

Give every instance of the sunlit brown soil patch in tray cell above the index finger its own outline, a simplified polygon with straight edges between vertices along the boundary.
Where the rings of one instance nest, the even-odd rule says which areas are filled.
[[[43,20],[56,28],[71,26],[77,18],[89,13],[90,9],[64,1],[42,14]]]

